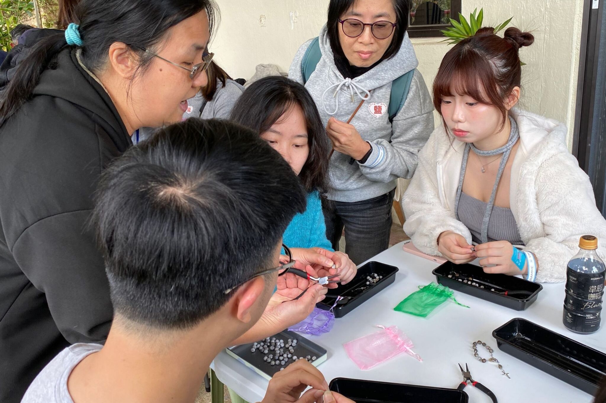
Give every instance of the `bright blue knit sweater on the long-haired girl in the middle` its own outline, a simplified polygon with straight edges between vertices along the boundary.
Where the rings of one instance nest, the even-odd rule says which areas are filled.
[[[308,193],[305,212],[295,215],[288,224],[282,242],[290,248],[321,247],[334,251],[326,238],[326,224],[318,192]]]

